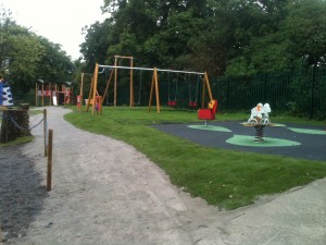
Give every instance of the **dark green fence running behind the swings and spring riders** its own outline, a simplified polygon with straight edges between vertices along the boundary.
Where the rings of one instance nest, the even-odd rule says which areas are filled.
[[[149,105],[152,71],[134,71],[134,105]],[[110,71],[99,75],[98,90],[104,94]],[[196,110],[202,101],[202,77],[193,74],[158,72],[161,106]],[[258,102],[268,102],[273,113],[286,112],[311,119],[326,119],[326,68],[304,71],[273,72],[251,76],[210,77],[213,98],[218,100],[218,111],[250,111]],[[90,83],[85,83],[84,98],[88,98]],[[74,89],[75,93],[79,91]],[[113,82],[103,105],[113,105]],[[33,93],[17,102],[34,105]],[[129,71],[118,71],[117,106],[129,106]],[[75,100],[74,100],[75,101]],[[209,96],[205,95],[205,103]],[[155,106],[155,97],[152,105]]]

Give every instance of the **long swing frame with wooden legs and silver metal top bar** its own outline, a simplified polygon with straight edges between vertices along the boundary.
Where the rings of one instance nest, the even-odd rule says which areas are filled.
[[[99,69],[103,69],[101,72],[99,72]],[[148,106],[148,111],[151,111],[151,103],[152,103],[152,97],[153,97],[153,93],[155,90],[155,96],[156,96],[156,111],[158,113],[160,112],[160,96],[159,96],[159,78],[158,78],[158,72],[170,72],[170,73],[184,73],[184,74],[196,74],[196,75],[203,75],[203,89],[202,89],[202,107],[204,107],[204,95],[205,95],[205,88],[209,91],[209,96],[210,96],[210,100],[213,100],[213,96],[212,96],[212,91],[211,91],[211,86],[210,86],[210,82],[209,82],[209,76],[206,72],[190,72],[190,71],[177,71],[177,70],[168,70],[168,69],[150,69],[150,68],[136,68],[133,66],[133,64],[130,66],[120,66],[116,65],[103,65],[103,64],[96,64],[95,68],[95,75],[93,75],[93,83],[92,83],[92,88],[93,89],[93,100],[96,98],[96,91],[97,91],[97,84],[98,84],[98,74],[103,73],[105,69],[112,69],[113,71],[117,71],[118,69],[124,69],[124,70],[130,70],[130,95],[133,96],[133,91],[131,91],[131,86],[133,86],[133,78],[131,78],[131,72],[134,70],[139,70],[139,71],[152,71],[153,72],[153,76],[152,76],[152,83],[151,83],[151,91],[150,91],[150,100],[149,100],[149,106]],[[115,73],[116,74],[116,73]],[[130,96],[130,101],[131,101],[131,96]],[[90,96],[89,96],[90,98]],[[131,102],[130,102],[131,106]],[[87,111],[88,111],[88,107],[87,107]],[[95,105],[92,105],[92,113],[95,113]]]

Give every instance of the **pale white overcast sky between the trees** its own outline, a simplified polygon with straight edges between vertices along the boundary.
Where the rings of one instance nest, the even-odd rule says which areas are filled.
[[[82,27],[104,20],[100,9],[103,0],[0,0],[0,3],[12,11],[18,25],[32,27],[38,36],[62,45],[62,50],[73,59],[80,56]]]

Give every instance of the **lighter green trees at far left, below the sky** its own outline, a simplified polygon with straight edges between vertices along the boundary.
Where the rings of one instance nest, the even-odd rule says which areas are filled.
[[[14,102],[35,87],[37,79],[63,83],[73,78],[71,58],[61,46],[17,25],[0,9],[0,75],[10,82]]]

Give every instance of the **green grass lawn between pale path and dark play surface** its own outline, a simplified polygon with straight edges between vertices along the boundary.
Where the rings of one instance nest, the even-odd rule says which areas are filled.
[[[217,114],[217,120],[247,120],[249,114]],[[273,118],[273,115],[272,115]],[[159,123],[197,122],[197,113],[147,108],[103,108],[103,115],[73,112],[65,119],[79,128],[133,145],[160,166],[173,184],[209,204],[235,209],[260,195],[280,193],[326,176],[326,161],[203,147],[151,127]],[[277,122],[321,124],[283,117]]]

